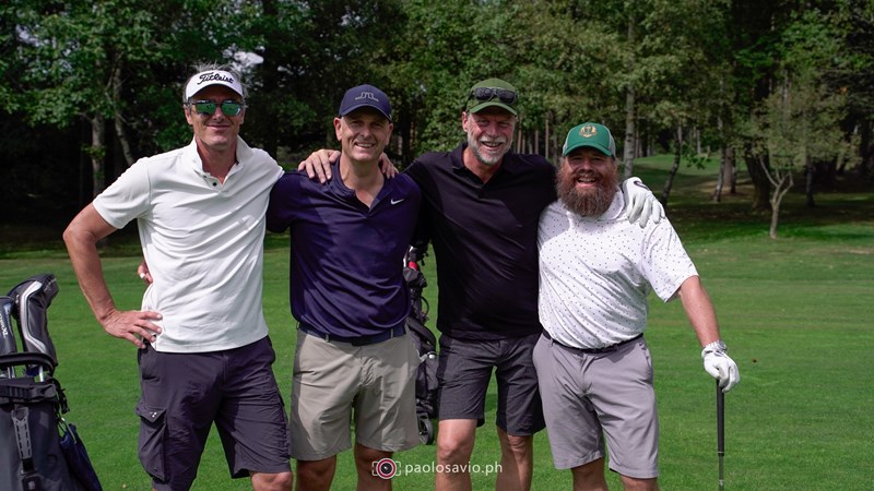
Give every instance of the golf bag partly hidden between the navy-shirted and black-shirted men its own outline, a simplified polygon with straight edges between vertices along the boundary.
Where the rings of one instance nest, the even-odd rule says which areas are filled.
[[[432,444],[436,438],[434,422],[437,417],[437,337],[425,325],[428,321],[428,302],[422,297],[427,286],[425,275],[418,267],[422,256],[415,248],[410,248],[404,259],[403,277],[410,289],[410,314],[406,328],[418,351],[420,364],[416,370],[416,416],[418,417],[418,440]]]

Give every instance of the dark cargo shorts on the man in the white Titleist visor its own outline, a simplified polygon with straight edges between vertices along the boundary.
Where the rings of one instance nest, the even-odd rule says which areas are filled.
[[[212,352],[157,352],[140,364],[139,454],[156,490],[189,489],[213,422],[232,477],[291,470],[270,339]]]

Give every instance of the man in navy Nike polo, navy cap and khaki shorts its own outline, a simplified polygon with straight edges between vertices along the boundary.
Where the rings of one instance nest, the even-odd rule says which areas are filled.
[[[334,130],[342,152],[333,178],[321,184],[286,173],[267,212],[268,229],[291,229],[291,303],[299,322],[292,457],[300,489],[330,489],[354,421],[358,489],[390,489],[374,463],[418,443],[420,360],[405,335],[402,266],[421,193],[409,177],[386,179],[379,169],[392,131],[382,91],[350,88]]]

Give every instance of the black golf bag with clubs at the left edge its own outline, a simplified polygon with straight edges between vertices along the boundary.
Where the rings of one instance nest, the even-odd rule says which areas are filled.
[[[58,360],[46,311],[58,294],[51,274],[0,297],[0,489],[102,491],[75,427],[62,415],[67,396],[55,379]],[[21,351],[11,320],[19,325]]]

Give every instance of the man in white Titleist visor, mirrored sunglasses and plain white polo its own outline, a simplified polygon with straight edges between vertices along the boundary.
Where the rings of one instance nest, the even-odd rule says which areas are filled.
[[[213,423],[232,477],[292,489],[261,308],[264,212],[283,170],[239,137],[245,95],[232,69],[199,67],[182,92],[191,143],[137,161],[63,233],[97,321],[139,348],[139,454],[155,490],[191,488]],[[150,286],[142,310],[121,311],[96,242],[133,219]]]

